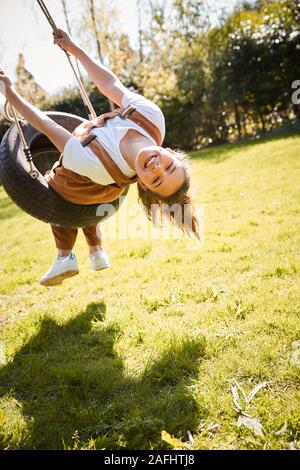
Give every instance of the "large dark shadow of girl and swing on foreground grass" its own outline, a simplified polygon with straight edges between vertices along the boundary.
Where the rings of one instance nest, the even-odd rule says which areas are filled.
[[[195,429],[203,411],[188,385],[204,342],[174,338],[133,377],[115,351],[122,332],[103,323],[105,310],[105,303],[89,304],[65,325],[43,319],[39,333],[0,369],[1,396],[8,408],[17,403],[27,423],[19,438],[18,424],[8,425],[2,449],[82,448],[90,438],[96,448],[163,449],[163,429],[184,440]],[[14,423],[13,415],[6,420]]]

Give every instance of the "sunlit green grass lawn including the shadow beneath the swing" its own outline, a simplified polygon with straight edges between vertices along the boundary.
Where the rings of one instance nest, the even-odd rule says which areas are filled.
[[[0,189],[2,449],[299,447],[299,146],[194,152],[201,249],[115,240],[110,219],[111,268],[89,270],[80,233],[80,274],[56,288],[38,283],[55,257],[49,227]],[[237,426],[231,387],[262,382],[240,400],[255,434]]]

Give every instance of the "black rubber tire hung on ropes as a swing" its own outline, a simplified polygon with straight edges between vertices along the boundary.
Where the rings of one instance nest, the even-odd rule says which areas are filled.
[[[47,115],[70,132],[83,121],[73,114],[47,112]],[[99,206],[104,210],[106,204],[84,206],[72,204],[59,197],[43,176],[58,160],[59,152],[47,137],[30,124],[22,124],[22,130],[31,150],[35,169],[39,172],[37,179],[29,175],[29,164],[22,151],[15,124],[8,129],[0,146],[0,180],[8,196],[17,206],[39,220],[63,227],[96,225],[112,215],[113,211],[97,215]],[[115,211],[118,210],[128,190],[129,186],[125,188],[120,199],[110,203]]]

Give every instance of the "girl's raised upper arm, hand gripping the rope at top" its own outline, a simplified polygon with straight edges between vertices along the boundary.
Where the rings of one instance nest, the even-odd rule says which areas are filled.
[[[91,80],[94,82],[101,93],[122,106],[122,97],[126,93],[127,88],[122,84],[119,78],[104,65],[99,65],[86,53],[77,46],[70,36],[61,29],[58,34],[54,34],[54,44],[59,45],[62,49],[73,54],[83,65]]]

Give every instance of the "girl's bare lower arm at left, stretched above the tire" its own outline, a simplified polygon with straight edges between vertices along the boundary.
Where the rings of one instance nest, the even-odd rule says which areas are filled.
[[[55,147],[61,153],[63,152],[66,142],[72,137],[71,132],[56,124],[45,113],[22,98],[13,88],[7,90],[6,98],[29,124],[45,134]]]

